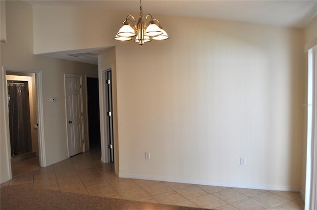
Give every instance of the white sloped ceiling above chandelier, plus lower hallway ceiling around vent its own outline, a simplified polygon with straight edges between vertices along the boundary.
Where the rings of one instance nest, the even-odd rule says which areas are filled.
[[[26,0],[31,4],[105,8],[139,12],[139,0]],[[229,20],[274,26],[304,28],[317,14],[317,0],[143,0],[144,14],[187,16]],[[98,49],[85,52],[98,54]],[[47,53],[46,55],[97,64],[97,57],[76,58],[67,54],[83,50]],[[71,57],[71,58],[69,58]]]

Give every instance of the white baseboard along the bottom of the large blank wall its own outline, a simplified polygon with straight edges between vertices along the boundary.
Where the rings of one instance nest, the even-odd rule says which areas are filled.
[[[154,181],[178,182],[178,183],[187,183],[187,184],[201,184],[201,185],[210,185],[210,186],[219,186],[219,187],[236,187],[236,188],[248,188],[248,189],[259,189],[259,190],[300,192],[300,188],[294,187],[294,186],[262,185],[262,184],[236,183],[236,182],[212,182],[212,181],[206,181],[206,180],[200,180],[200,179],[184,179],[184,178],[175,178],[175,177],[151,176],[151,175],[145,175],[145,174],[131,174],[131,173],[119,173],[119,177],[154,180]]]

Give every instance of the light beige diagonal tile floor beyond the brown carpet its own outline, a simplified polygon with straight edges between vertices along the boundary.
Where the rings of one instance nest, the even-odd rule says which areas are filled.
[[[1,184],[214,210],[303,210],[298,192],[266,191],[119,178],[91,150]],[[32,161],[29,161],[32,162]],[[22,170],[22,169],[21,169]]]

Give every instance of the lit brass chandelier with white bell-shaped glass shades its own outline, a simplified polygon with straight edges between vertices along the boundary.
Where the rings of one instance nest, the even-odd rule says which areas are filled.
[[[150,21],[147,25],[148,18],[151,18],[151,20],[149,19]],[[157,24],[159,24],[159,26]],[[169,38],[167,33],[160,26],[158,19],[153,19],[150,14],[145,18],[143,17],[141,0],[138,22],[136,23],[135,18],[132,15],[128,15],[114,39],[119,41],[129,41],[132,40],[132,37],[134,36],[136,36],[134,42],[138,42],[141,46],[145,42],[150,42],[151,40],[166,40]]]

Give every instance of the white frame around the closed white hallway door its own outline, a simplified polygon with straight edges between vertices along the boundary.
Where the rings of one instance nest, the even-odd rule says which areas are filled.
[[[82,80],[82,76],[81,75],[74,75],[74,74],[64,74],[64,91],[65,91],[65,112],[66,112],[66,135],[67,135],[67,155],[68,157],[69,156],[69,147],[68,147],[68,127],[67,127],[67,122],[68,122],[68,119],[67,119],[67,98],[66,98],[66,77],[70,77],[70,78],[79,78],[80,79],[80,85],[81,85],[81,88],[80,88],[80,105],[81,105],[81,130],[82,130],[82,136],[83,136],[83,140],[84,142],[82,142],[83,144],[83,151],[86,151],[85,149],[85,142],[86,142],[86,139],[85,139],[85,130],[84,130],[84,106],[83,106],[83,80]]]

